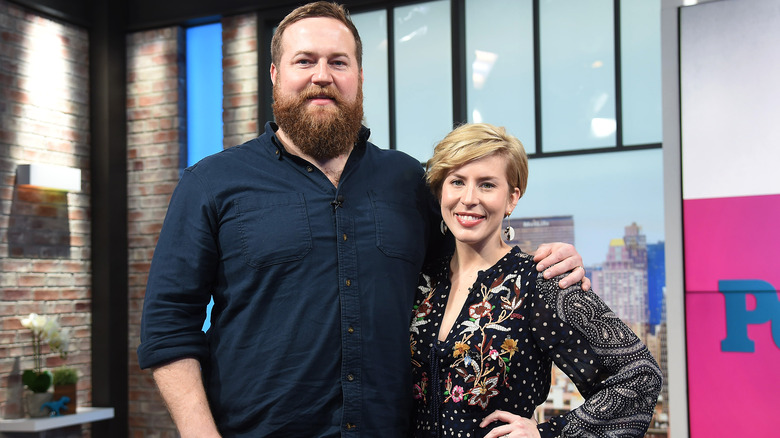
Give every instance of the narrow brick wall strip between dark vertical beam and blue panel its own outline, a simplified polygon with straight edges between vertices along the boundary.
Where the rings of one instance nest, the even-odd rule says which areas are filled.
[[[174,437],[173,422],[136,348],[149,265],[179,179],[183,147],[184,32],[165,28],[127,38],[129,427],[132,437]]]

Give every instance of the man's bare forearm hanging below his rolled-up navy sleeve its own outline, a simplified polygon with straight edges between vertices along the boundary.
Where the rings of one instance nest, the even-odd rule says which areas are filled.
[[[197,360],[179,359],[156,367],[152,376],[182,438],[220,436]]]

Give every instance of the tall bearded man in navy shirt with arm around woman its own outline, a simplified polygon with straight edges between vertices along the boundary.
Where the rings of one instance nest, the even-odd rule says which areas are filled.
[[[139,363],[182,437],[404,436],[412,298],[440,217],[419,162],[367,142],[362,48],[342,7],[296,9],[271,51],[278,127],[184,172]],[[559,247],[542,263],[581,265]]]

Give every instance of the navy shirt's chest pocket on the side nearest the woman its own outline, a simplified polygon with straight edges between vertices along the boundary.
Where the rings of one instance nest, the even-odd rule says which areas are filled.
[[[425,256],[425,217],[416,203],[380,197],[369,192],[376,224],[376,246],[386,256],[422,264]]]

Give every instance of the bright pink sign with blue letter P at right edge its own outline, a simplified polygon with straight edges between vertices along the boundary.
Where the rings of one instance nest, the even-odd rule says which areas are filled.
[[[683,208],[691,437],[777,436],[780,195]]]

